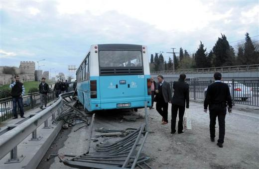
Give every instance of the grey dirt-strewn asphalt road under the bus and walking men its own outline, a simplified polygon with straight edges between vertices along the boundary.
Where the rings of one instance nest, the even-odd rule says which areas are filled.
[[[148,164],[153,169],[259,169],[258,113],[243,112],[234,108],[231,115],[227,114],[225,143],[223,148],[219,148],[216,142],[210,141],[209,113],[203,112],[203,105],[191,102],[189,111],[192,115],[192,130],[171,135],[171,105],[169,104],[169,123],[166,125],[161,124],[161,117],[155,109],[149,110],[148,125],[151,133],[142,152],[151,158]],[[144,122],[144,119],[137,119],[135,122],[121,121],[121,115],[129,114],[144,116],[144,110],[140,109],[137,113],[131,111],[98,113],[95,128],[136,128]],[[51,149],[58,147],[58,150],[50,149],[48,154],[82,154],[85,151],[86,133],[89,132],[89,127],[73,132],[78,127],[80,126],[62,132],[51,146]],[[215,139],[218,139],[218,127]],[[98,140],[96,143],[111,139],[98,138]],[[92,151],[95,150],[95,144],[91,144]],[[56,157],[48,162],[43,159],[38,169],[69,169],[69,167],[59,163]]]

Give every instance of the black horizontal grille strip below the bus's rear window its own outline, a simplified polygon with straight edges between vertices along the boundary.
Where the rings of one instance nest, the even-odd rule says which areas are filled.
[[[143,75],[143,68],[103,68],[100,69],[100,76],[110,75]]]

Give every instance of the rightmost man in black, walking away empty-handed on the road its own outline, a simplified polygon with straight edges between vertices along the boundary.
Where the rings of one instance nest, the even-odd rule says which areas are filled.
[[[207,94],[204,100],[204,112],[207,113],[209,105],[210,110],[210,138],[215,142],[215,125],[218,116],[219,121],[219,139],[217,145],[222,148],[225,137],[225,117],[227,114],[226,106],[228,104],[228,111],[231,113],[232,99],[228,84],[221,82],[221,73],[214,74],[215,83],[208,86]]]

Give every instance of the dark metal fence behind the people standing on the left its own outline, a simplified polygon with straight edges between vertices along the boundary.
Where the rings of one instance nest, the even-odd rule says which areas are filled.
[[[55,99],[55,91],[50,90],[48,94],[47,101],[50,102],[53,99]],[[28,93],[22,96],[22,102],[23,102],[23,110],[28,111],[30,109],[33,109],[34,107],[37,107],[40,105],[40,94],[39,92],[34,93]],[[12,105],[12,98],[2,98],[0,99],[0,122],[10,119],[13,117],[13,105]],[[19,106],[17,106],[17,112],[19,113]]]

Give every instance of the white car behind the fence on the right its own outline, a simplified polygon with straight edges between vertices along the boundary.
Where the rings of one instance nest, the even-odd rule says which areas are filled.
[[[222,82],[229,85],[229,90],[232,97],[232,81],[222,81]],[[206,96],[207,94],[207,89],[208,87],[204,89],[204,96]],[[253,90],[252,87],[248,87],[245,84],[242,84],[240,82],[234,82],[235,100],[246,101],[248,98],[253,96],[252,90]]]

